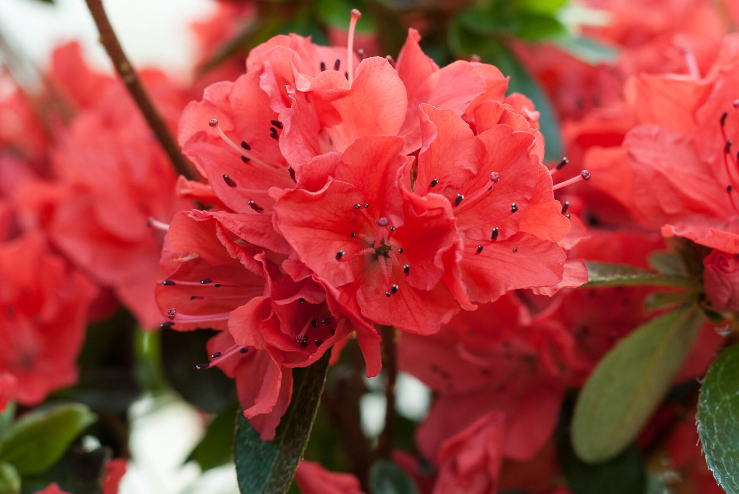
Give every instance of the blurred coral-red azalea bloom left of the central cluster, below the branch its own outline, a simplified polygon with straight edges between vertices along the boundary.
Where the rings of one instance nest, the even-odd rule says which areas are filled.
[[[171,83],[158,84],[171,91]],[[155,327],[160,316],[153,286],[164,274],[157,226],[188,203],[175,197],[171,164],[122,91],[118,84],[109,87],[104,104],[75,117],[52,156],[55,180],[29,182],[18,201],[48,203],[44,228],[52,243],[113,288],[145,327]]]

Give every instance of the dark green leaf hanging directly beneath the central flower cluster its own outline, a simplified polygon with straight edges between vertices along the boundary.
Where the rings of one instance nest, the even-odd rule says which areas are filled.
[[[282,494],[290,487],[316,420],[330,354],[329,350],[313,365],[293,369],[293,396],[273,440],[259,439],[239,414],[234,462],[242,494]]]

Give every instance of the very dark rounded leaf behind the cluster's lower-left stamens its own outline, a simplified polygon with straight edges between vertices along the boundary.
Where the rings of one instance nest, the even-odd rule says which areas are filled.
[[[164,372],[171,386],[188,403],[201,410],[217,413],[236,397],[234,380],[220,369],[198,370],[198,363],[208,361],[205,344],[216,332],[160,331]]]

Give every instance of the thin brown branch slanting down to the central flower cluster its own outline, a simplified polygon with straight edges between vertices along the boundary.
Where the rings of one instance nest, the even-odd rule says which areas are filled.
[[[149,94],[147,94],[146,90],[143,88],[136,71],[134,71],[133,66],[126,57],[126,53],[123,52],[123,48],[118,42],[115,31],[110,25],[108,15],[105,13],[103,2],[101,0],[85,1],[87,2],[87,7],[92,14],[92,18],[95,20],[95,24],[98,26],[101,44],[105,47],[105,51],[108,52],[108,56],[110,57],[110,60],[112,60],[115,70],[126,85],[126,89],[129,90],[129,94],[131,94],[134,102],[136,102],[136,105],[139,107],[141,113],[146,119],[146,122],[149,123],[151,131],[153,131],[154,135],[157,136],[157,139],[162,145],[164,151],[167,153],[167,156],[169,156],[169,161],[171,161],[174,166],[174,170],[180,175],[185,175],[185,178],[193,180],[195,175],[192,172],[188,161],[185,159],[185,156],[182,155],[180,146],[177,145],[177,142],[174,141],[171,133],[169,133],[166,123],[162,119],[162,116],[160,116],[157,108],[155,108],[154,104],[151,102]]]

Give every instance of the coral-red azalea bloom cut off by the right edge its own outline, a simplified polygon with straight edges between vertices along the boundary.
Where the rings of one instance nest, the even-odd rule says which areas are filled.
[[[726,38],[724,52],[737,44],[736,36]],[[654,108],[644,122],[651,125],[630,131],[624,146],[639,214],[662,225],[665,236],[738,254],[739,177],[732,142],[739,132],[739,64],[722,60],[707,80],[638,80],[636,105]],[[675,94],[680,105],[673,102]]]

